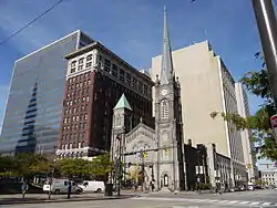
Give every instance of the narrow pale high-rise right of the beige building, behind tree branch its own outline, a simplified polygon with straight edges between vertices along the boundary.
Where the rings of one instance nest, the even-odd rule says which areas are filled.
[[[238,114],[242,117],[248,117],[250,116],[250,111],[247,94],[242,83],[236,83],[235,86]],[[248,180],[252,181],[252,179],[258,179],[258,168],[256,166],[257,159],[256,154],[254,152],[254,143],[250,142],[252,133],[249,129],[244,129],[240,132],[240,134],[243,142],[244,159],[248,173]]]

